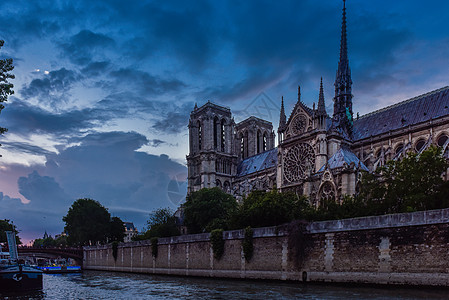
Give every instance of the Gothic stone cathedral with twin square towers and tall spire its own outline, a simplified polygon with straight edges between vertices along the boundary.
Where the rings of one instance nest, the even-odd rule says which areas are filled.
[[[229,108],[195,105],[189,120],[188,193],[220,187],[241,200],[253,190],[306,195],[312,205],[358,192],[363,171],[373,171],[407,152],[430,145],[449,153],[449,87],[364,116],[352,111],[346,7],[333,114],[326,111],[321,80],[318,105],[298,101],[287,118],[282,99],[278,146],[271,122],[254,116],[235,123]]]

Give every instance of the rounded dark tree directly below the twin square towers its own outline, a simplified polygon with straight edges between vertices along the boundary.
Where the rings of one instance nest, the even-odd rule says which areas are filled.
[[[227,229],[227,222],[237,209],[237,201],[218,187],[193,192],[184,204],[184,225],[189,233]]]

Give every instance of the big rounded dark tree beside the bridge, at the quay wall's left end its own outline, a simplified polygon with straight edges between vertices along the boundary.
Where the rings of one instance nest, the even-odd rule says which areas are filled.
[[[120,219],[117,219],[111,219],[108,210],[98,201],[87,198],[73,202],[67,215],[62,218],[66,224],[64,231],[68,235],[68,243],[77,246],[119,239],[120,228],[117,225]],[[123,222],[121,225],[121,231],[124,232]]]

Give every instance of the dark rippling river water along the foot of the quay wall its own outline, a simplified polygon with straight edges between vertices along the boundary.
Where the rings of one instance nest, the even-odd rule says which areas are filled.
[[[353,287],[84,271],[44,274],[42,292],[0,299],[448,299],[449,290]]]

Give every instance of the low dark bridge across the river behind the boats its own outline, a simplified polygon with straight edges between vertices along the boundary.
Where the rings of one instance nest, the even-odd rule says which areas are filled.
[[[22,246],[17,248],[19,256],[33,256],[41,258],[72,258],[79,264],[83,262],[83,249],[82,248],[39,248],[39,247],[27,247]]]

